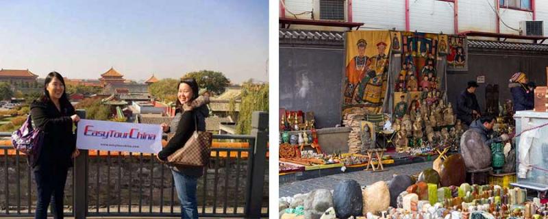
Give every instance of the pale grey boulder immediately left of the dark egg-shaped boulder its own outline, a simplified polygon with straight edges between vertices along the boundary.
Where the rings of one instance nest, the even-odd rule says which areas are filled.
[[[322,214],[333,207],[333,196],[329,190],[314,190],[304,200],[305,218],[319,219]]]

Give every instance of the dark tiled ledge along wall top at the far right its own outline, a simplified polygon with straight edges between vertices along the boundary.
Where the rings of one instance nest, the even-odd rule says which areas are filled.
[[[548,44],[501,42],[489,40],[468,40],[468,46],[479,49],[509,49],[523,51],[548,51]]]

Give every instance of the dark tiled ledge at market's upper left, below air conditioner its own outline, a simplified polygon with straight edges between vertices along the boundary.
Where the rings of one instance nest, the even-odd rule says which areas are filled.
[[[344,42],[345,32],[305,29],[279,29],[278,38],[279,40],[317,40],[328,42]]]

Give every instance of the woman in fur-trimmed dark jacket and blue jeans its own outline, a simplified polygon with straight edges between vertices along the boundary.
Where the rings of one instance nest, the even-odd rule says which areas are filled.
[[[164,132],[174,132],[167,145],[158,153],[158,159],[165,161],[169,155],[182,148],[197,129],[206,131],[206,117],[209,110],[205,105],[208,101],[199,101],[198,83],[193,78],[183,79],[177,85],[177,113],[168,127],[162,124]],[[197,181],[203,175],[201,167],[171,166],[177,196],[181,201],[181,218],[198,218],[198,203],[196,198]]]

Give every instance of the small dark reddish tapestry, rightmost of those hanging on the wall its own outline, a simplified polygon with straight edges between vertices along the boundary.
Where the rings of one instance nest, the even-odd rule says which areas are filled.
[[[468,70],[468,44],[466,36],[451,35],[448,40],[447,71]]]

